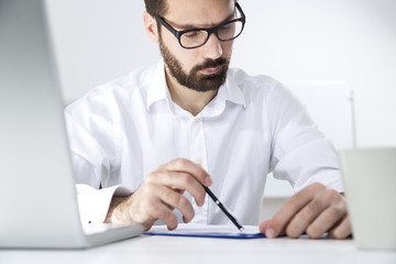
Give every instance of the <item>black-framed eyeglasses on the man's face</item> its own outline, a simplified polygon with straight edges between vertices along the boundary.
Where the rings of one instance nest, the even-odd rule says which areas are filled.
[[[184,48],[197,48],[204,46],[210,35],[215,33],[217,38],[221,42],[228,42],[237,38],[241,35],[246,16],[243,13],[241,7],[238,2],[235,2],[235,8],[238,9],[241,18],[233,19],[230,21],[226,21],[217,26],[207,28],[207,29],[191,29],[191,30],[183,30],[177,31],[172,25],[169,25],[164,18],[156,15],[156,20],[160,21],[172,34],[176,36],[180,46]]]

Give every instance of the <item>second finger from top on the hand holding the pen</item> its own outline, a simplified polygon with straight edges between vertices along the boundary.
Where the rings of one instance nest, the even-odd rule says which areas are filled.
[[[150,176],[150,180],[155,185],[167,186],[175,191],[183,194],[187,190],[196,200],[198,206],[205,202],[205,189],[202,185],[191,175],[180,172],[156,172]]]

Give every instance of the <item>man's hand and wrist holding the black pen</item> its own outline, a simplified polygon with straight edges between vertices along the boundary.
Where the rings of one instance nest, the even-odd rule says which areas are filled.
[[[133,195],[113,197],[106,222],[141,223],[148,230],[160,219],[174,230],[177,219],[173,209],[182,212],[186,223],[195,216],[184,191],[187,190],[197,205],[202,206],[206,195],[202,185],[211,184],[210,176],[200,165],[184,158],[175,160],[150,174]]]

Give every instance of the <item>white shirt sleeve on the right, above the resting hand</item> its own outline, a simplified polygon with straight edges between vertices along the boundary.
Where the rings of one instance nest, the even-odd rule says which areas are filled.
[[[274,177],[288,180],[295,191],[312,183],[343,191],[336,148],[306,108],[282,85],[268,96],[273,133],[271,168]]]

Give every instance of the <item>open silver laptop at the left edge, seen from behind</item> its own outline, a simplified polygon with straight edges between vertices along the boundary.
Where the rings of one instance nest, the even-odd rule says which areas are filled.
[[[143,232],[82,227],[63,109],[45,1],[0,0],[0,248],[84,249]]]

